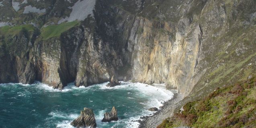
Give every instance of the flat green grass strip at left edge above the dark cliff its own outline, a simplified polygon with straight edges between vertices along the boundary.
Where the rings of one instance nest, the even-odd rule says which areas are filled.
[[[31,24],[21,26],[3,26],[0,27],[0,35],[18,35],[18,33],[20,33],[22,30],[33,32],[35,31],[35,27]]]

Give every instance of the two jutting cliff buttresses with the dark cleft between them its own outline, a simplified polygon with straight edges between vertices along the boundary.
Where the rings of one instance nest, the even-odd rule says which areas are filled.
[[[107,81],[106,62],[100,62],[94,40],[90,29],[78,26],[60,38],[36,42],[38,79],[58,89],[72,81],[78,87]]]

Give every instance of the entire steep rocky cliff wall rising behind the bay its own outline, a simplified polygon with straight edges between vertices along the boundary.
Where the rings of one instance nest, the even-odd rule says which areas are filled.
[[[93,15],[59,36],[45,38],[43,30],[35,39],[2,36],[0,83],[39,80],[62,89],[116,75],[205,95],[215,83],[255,72],[252,5],[254,0],[96,0]],[[53,11],[45,14],[47,24]],[[22,53],[17,55],[9,42],[26,47],[14,48]]]

